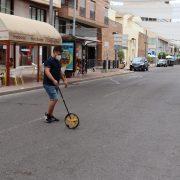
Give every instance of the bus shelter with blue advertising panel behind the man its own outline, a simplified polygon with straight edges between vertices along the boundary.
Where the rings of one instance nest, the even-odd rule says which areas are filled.
[[[88,68],[93,68],[97,60],[97,44],[100,41],[79,36],[62,36],[63,49],[69,52],[70,62],[66,66],[65,74],[72,77],[76,71],[87,73]]]

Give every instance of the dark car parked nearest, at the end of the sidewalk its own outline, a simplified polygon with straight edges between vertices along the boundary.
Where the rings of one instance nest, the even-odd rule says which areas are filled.
[[[131,71],[148,71],[149,64],[145,57],[136,57],[132,60],[132,64],[130,65]]]

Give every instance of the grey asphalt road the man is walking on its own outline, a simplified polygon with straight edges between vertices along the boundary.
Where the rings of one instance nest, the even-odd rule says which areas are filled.
[[[180,180],[180,66],[63,89],[76,130],[44,123],[43,90],[0,97],[0,180]]]

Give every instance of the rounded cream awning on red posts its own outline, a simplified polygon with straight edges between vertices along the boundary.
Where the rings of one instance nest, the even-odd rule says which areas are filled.
[[[47,23],[0,13],[0,41],[60,45],[62,39],[58,31]]]

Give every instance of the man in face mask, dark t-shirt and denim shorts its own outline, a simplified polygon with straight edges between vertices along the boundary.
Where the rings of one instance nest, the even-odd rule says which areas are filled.
[[[44,79],[43,85],[46,90],[50,101],[48,106],[48,112],[45,113],[46,121],[51,123],[52,121],[59,121],[53,116],[54,107],[60,97],[58,86],[60,79],[64,81],[65,87],[67,87],[67,81],[61,72],[61,53],[62,47],[56,46],[53,49],[53,55],[44,62]]]

